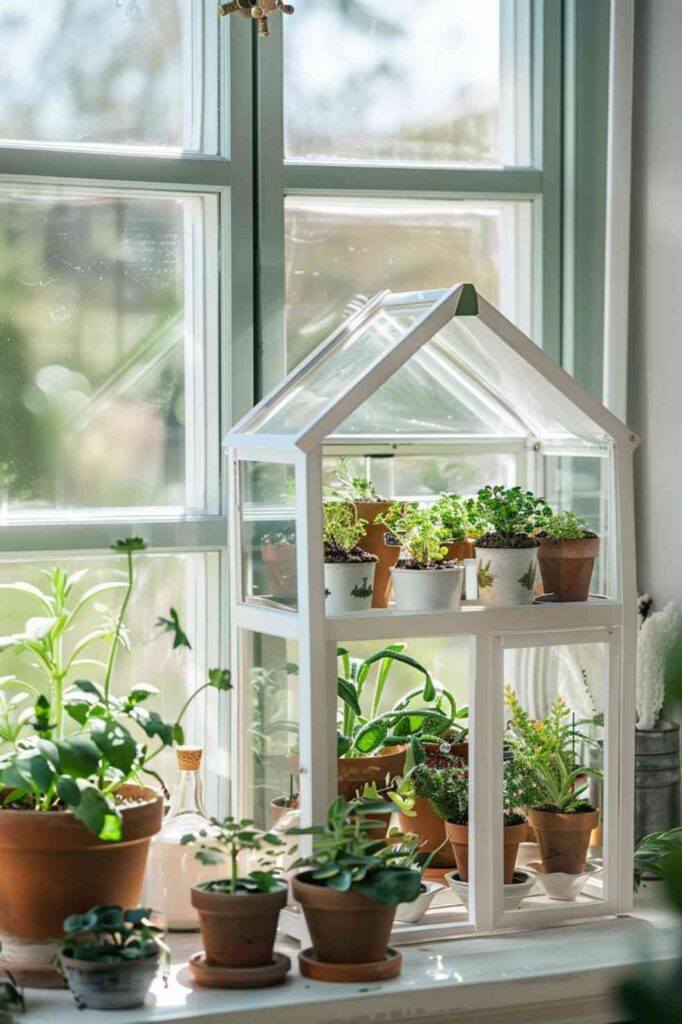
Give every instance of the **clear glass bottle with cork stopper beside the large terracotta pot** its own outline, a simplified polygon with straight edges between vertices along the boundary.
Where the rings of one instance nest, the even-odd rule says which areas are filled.
[[[178,777],[161,831],[152,841],[146,869],[145,902],[165,919],[171,932],[199,931],[190,890],[225,873],[222,865],[205,865],[196,859],[196,848],[182,846],[183,836],[210,827],[204,806],[201,746],[177,746]]]

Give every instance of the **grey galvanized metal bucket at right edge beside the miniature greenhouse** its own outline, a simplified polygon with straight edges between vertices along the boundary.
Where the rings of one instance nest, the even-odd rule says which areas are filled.
[[[680,823],[680,726],[635,733],[635,842]]]

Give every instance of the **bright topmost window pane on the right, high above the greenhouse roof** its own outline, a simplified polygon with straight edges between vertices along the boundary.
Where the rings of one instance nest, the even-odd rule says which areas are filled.
[[[286,155],[529,163],[528,25],[507,0],[306,0],[285,27]],[[339,58],[342,54],[342,59]]]

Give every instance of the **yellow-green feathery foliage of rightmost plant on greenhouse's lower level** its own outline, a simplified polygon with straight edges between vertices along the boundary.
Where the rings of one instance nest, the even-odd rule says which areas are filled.
[[[591,725],[591,719],[576,721],[570,709],[558,696],[543,721],[531,719],[521,706],[513,688],[505,686],[505,702],[511,711],[508,741],[514,757],[534,773],[539,794],[531,806],[540,810],[578,813],[593,810],[583,798],[587,775],[601,778],[602,772],[581,764],[581,744],[595,745],[581,726]]]

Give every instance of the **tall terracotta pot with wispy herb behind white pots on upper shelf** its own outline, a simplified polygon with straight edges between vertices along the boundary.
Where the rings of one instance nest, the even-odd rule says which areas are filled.
[[[347,459],[343,458],[339,460],[330,494],[337,501],[352,505],[356,517],[365,520],[363,547],[371,555],[377,556],[372,607],[388,607],[391,593],[390,570],[395,565],[399,549],[385,544],[386,530],[378,521],[378,517],[387,512],[392,503],[377,494],[371,480],[365,476],[356,476],[351,471]]]

